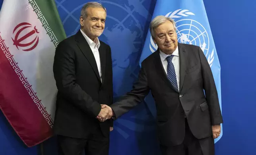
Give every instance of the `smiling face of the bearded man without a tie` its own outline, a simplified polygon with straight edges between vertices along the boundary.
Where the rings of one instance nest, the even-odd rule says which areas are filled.
[[[104,28],[106,12],[103,8],[87,8],[86,17],[80,17],[81,29],[94,42],[99,37]]]

